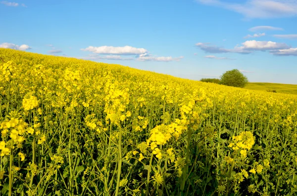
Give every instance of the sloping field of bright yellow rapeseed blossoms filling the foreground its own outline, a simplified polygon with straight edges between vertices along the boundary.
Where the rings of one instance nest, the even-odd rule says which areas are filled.
[[[293,196],[297,96],[0,48],[1,196]]]

